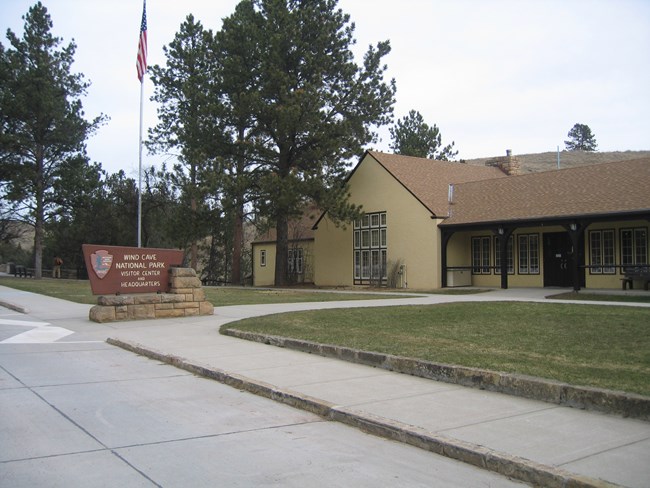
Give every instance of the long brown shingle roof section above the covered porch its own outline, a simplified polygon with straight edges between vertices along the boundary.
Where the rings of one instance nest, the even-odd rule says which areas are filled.
[[[650,158],[463,183],[451,210],[441,225],[650,211]]]

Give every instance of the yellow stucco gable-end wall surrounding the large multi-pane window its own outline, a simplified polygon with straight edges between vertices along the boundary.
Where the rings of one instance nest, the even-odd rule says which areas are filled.
[[[387,260],[406,266],[408,288],[440,286],[438,221],[373,158],[366,157],[350,181],[350,201],[366,213],[386,212]],[[315,283],[319,286],[354,284],[353,226],[336,228],[327,218],[315,235]]]

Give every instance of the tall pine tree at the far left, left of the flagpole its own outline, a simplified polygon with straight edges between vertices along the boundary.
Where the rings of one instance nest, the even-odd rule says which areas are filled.
[[[56,184],[66,166],[87,162],[86,139],[102,123],[84,119],[89,86],[71,72],[76,46],[61,47],[41,2],[23,16],[19,39],[7,31],[0,49],[0,161],[8,201],[20,202],[34,225],[34,276],[42,277],[44,224],[57,212]]]

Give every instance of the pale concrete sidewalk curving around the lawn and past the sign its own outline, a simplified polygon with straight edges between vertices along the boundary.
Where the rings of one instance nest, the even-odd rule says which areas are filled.
[[[102,325],[88,321],[88,305],[10,288],[0,287],[0,303],[22,307],[33,319],[74,332],[61,340],[110,337],[122,347],[237,388],[533,485],[650,486],[650,422],[464,388],[218,332],[221,325],[240,318],[293,310],[544,301],[547,294],[548,290],[513,289],[462,296],[216,307],[211,317]]]

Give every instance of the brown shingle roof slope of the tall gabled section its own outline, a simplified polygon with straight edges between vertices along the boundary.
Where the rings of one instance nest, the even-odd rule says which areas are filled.
[[[386,171],[436,216],[447,216],[449,184],[487,179],[504,179],[498,168],[471,166],[448,161],[415,158],[400,154],[368,151]]]

